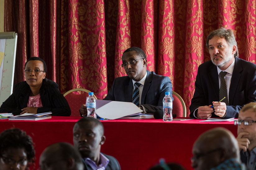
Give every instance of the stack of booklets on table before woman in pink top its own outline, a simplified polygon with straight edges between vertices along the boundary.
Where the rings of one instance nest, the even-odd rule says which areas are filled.
[[[38,114],[24,113],[22,115],[9,117],[9,121],[38,121],[52,118],[51,114],[52,112]]]

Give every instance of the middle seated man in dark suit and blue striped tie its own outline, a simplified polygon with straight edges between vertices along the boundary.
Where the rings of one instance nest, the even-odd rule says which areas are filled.
[[[148,71],[146,55],[138,47],[126,49],[122,62],[128,76],[116,78],[104,100],[133,102],[146,113],[162,110],[165,92],[170,92],[172,96],[171,80]],[[137,89],[139,91],[136,100]],[[80,113],[87,114],[85,104],[81,106]]]

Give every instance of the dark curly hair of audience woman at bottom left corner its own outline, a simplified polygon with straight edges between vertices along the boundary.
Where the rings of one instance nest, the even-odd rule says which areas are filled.
[[[3,154],[8,148],[24,148],[27,154],[28,166],[32,165],[35,161],[35,150],[32,138],[26,132],[12,128],[3,131],[0,134],[0,155]]]

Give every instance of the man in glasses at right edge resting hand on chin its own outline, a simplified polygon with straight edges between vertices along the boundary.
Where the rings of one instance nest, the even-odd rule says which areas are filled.
[[[237,142],[240,148],[241,161],[247,170],[256,169],[256,103],[246,104],[235,121],[237,128]]]

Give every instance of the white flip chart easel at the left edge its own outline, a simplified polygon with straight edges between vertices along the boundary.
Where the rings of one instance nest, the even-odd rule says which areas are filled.
[[[0,105],[13,90],[17,36],[15,32],[0,32]]]

